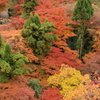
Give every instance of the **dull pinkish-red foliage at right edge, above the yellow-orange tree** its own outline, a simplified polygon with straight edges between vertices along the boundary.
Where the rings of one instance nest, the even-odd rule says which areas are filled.
[[[100,53],[92,54],[92,57],[88,58],[85,65],[83,65],[80,70],[82,73],[90,74],[92,80],[100,77]]]

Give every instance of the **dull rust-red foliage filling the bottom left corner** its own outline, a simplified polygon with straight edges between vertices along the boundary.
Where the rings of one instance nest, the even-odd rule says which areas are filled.
[[[36,100],[35,92],[28,87],[28,81],[25,77],[15,77],[8,83],[0,83],[0,99],[1,100]]]

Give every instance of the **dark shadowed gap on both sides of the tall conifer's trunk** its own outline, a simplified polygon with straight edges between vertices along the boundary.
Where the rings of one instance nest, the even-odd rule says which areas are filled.
[[[77,31],[74,31],[75,34],[77,34]],[[71,50],[77,50],[76,46],[77,46],[77,36],[74,37],[70,37],[66,40],[69,48],[71,48]],[[83,52],[82,52],[82,56],[84,56],[85,54],[92,52],[93,50],[93,44],[94,44],[94,40],[93,40],[93,36],[90,35],[90,33],[87,31],[86,34],[84,35],[84,46],[83,46]]]

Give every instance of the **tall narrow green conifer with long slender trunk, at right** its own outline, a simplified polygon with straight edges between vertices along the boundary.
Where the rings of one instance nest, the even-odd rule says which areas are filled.
[[[72,20],[80,23],[78,29],[77,49],[80,58],[82,57],[82,49],[84,46],[84,35],[86,34],[87,22],[93,16],[94,10],[90,0],[77,0],[77,4],[73,11]]]

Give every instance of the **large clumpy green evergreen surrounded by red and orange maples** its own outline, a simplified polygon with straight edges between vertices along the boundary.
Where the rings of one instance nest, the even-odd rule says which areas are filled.
[[[51,51],[53,42],[57,40],[54,31],[54,24],[45,19],[44,23],[40,22],[38,14],[31,14],[30,18],[24,24],[22,36],[27,40],[27,44],[33,48],[36,55],[43,55]]]

